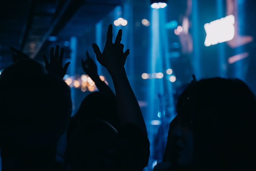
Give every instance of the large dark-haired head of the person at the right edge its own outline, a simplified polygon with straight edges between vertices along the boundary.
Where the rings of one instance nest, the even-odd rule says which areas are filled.
[[[255,96],[241,80],[190,84],[177,102],[177,163],[206,170],[253,167],[255,108]]]

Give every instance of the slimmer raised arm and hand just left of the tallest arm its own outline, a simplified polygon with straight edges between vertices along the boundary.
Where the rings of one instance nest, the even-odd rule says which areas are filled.
[[[100,80],[100,76],[97,71],[97,65],[93,59],[91,59],[88,51],[86,51],[86,57],[86,60],[81,60],[84,72],[90,76],[100,91],[114,95],[114,92],[110,89],[110,87],[106,85],[104,81]]]

